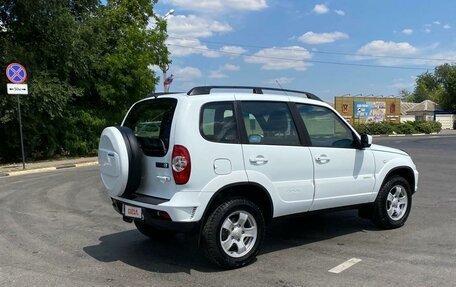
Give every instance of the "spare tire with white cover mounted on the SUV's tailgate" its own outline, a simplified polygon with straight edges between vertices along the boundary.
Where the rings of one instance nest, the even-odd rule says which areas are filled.
[[[128,195],[141,182],[142,152],[133,131],[126,127],[103,130],[98,163],[103,185],[110,196]]]

